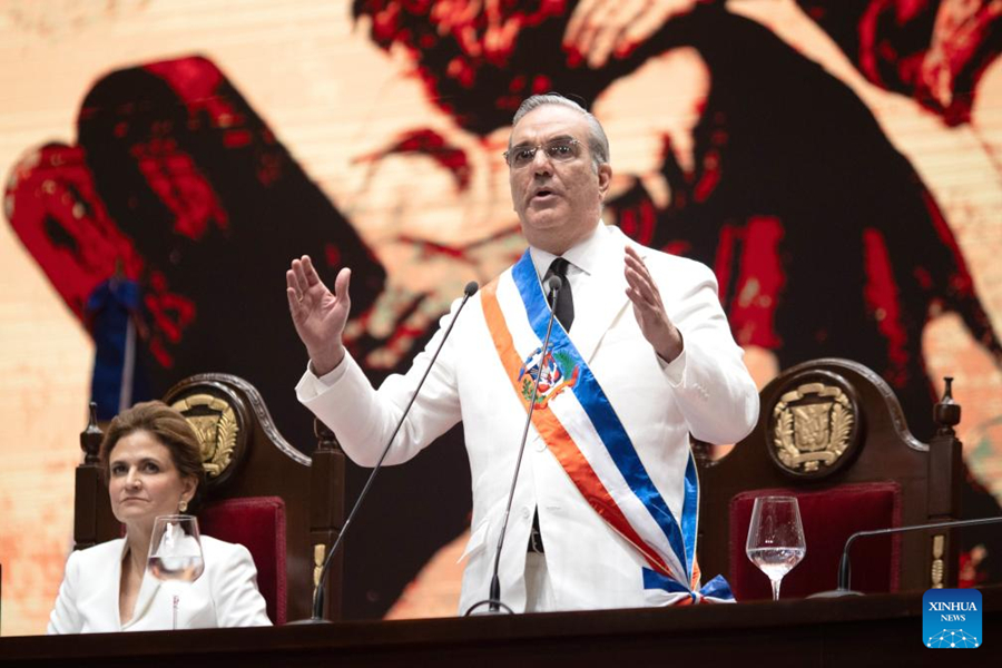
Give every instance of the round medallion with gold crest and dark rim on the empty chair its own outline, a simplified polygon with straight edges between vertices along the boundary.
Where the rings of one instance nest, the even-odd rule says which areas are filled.
[[[794,376],[769,419],[769,455],[785,473],[824,478],[855,451],[859,413],[852,389],[835,374]]]

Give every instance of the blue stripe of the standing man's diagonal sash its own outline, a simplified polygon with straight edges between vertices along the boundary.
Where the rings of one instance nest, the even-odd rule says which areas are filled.
[[[512,267],[512,277],[525,305],[529,323],[539,340],[543,341],[547,336],[550,308],[547,305],[542,286],[539,277],[536,275],[536,267],[528,250]],[[668,542],[676,558],[686,571],[687,584],[692,578],[690,564],[694,562],[692,558],[696,547],[696,508],[699,489],[691,453],[689,454],[689,463],[686,466],[686,489],[682,507],[685,538],[682,538],[682,530],[679,529],[678,522],[668,509],[668,504],[644,468],[644,463],[637,455],[637,451],[633,449],[626,429],[619,421],[616,410],[609,403],[609,399],[602,392],[601,386],[584,363],[581,354],[574,347],[574,344],[571,343],[567,332],[557,322],[554,322],[553,331],[550,333],[550,345],[553,351],[563,351],[570,355],[580,370],[578,382],[571,387],[571,391],[577,396],[578,403],[584,409],[596,431],[601,435],[606,449],[612,456],[612,461],[616,462],[616,466],[630,487],[630,490],[640,499],[650,517],[654,518],[665,536],[668,537]],[[686,584],[682,584],[682,587]],[[688,589],[685,589],[685,591],[688,591]]]

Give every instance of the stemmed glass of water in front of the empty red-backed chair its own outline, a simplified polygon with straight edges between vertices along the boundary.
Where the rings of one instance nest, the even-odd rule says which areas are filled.
[[[807,553],[800,510],[793,497],[759,497],[752,509],[745,552],[768,576],[773,600],[779,600],[779,583]]]

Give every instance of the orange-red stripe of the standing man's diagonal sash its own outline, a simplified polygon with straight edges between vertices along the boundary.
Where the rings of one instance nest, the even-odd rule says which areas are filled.
[[[508,380],[511,381],[515,394],[522,402],[525,410],[529,410],[529,401],[522,395],[521,387],[518,383],[519,370],[522,366],[522,360],[514,347],[514,341],[511,332],[504,321],[501,312],[501,305],[498,303],[498,279],[492,281],[480,291],[480,302],[483,307],[484,320],[501,364],[504,366]],[[633,530],[626,515],[617,505],[616,501],[609,494],[609,491],[601,483],[591,464],[584,459],[584,455],[578,449],[577,443],[571,438],[560,421],[549,407],[539,407],[532,412],[532,424],[546,441],[550,452],[563,466],[571,482],[584,497],[595,511],[622,538],[628,540],[637,550],[644,554],[648,563],[655,570],[670,577],[670,570],[665,561],[658,557],[657,551],[650,548],[644,539]]]

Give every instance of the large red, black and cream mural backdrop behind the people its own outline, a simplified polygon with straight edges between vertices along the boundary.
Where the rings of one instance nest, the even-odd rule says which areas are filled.
[[[501,151],[549,90],[606,126],[606,223],[713,267],[759,383],[857,360],[927,439],[955,376],[965,513],[999,513],[998,0],[0,11],[0,632],[43,629],[91,396],[110,418],[236,373],[308,452],[288,261],[352,266],[354,354],[374,382],[406,369],[462,286],[523,249]],[[459,430],[385,472],[348,540],[347,616],[454,611],[469,487]],[[967,583],[1002,579],[998,538],[962,542]]]

